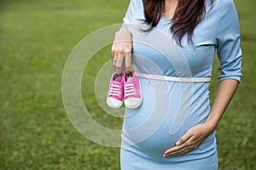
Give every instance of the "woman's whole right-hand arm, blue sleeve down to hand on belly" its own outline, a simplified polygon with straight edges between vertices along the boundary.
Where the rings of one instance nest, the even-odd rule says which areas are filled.
[[[216,48],[220,66],[218,89],[207,121],[191,127],[177,140],[176,146],[166,150],[163,156],[181,156],[197,148],[217,127],[224,111],[236,92],[241,79],[241,48],[239,21],[236,6],[232,0],[216,1],[218,25]]]

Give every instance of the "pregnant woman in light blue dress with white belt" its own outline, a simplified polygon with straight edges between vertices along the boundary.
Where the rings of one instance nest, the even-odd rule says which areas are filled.
[[[210,106],[215,51],[221,74]],[[218,169],[215,128],[241,80],[233,1],[131,0],[111,55],[119,74],[131,59],[143,99],[125,108],[121,169]]]

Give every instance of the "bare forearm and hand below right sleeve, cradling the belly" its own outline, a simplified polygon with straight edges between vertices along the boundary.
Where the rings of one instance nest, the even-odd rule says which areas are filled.
[[[163,157],[182,156],[197,148],[217,127],[221,116],[223,116],[236,92],[238,84],[239,82],[234,79],[224,79],[219,82],[217,94],[207,121],[190,128],[187,133],[177,140],[176,146],[165,151]]]

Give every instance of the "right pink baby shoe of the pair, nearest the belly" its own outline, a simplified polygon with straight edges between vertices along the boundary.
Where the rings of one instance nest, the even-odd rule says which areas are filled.
[[[134,72],[123,76],[124,91],[125,91],[125,106],[135,109],[142,104],[143,96],[141,85]]]

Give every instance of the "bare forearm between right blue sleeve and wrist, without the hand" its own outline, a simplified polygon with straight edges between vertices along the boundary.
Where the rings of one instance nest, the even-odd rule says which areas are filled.
[[[217,94],[212,104],[212,110],[207,117],[207,123],[215,129],[236,92],[239,82],[234,79],[225,79],[218,84]]]

